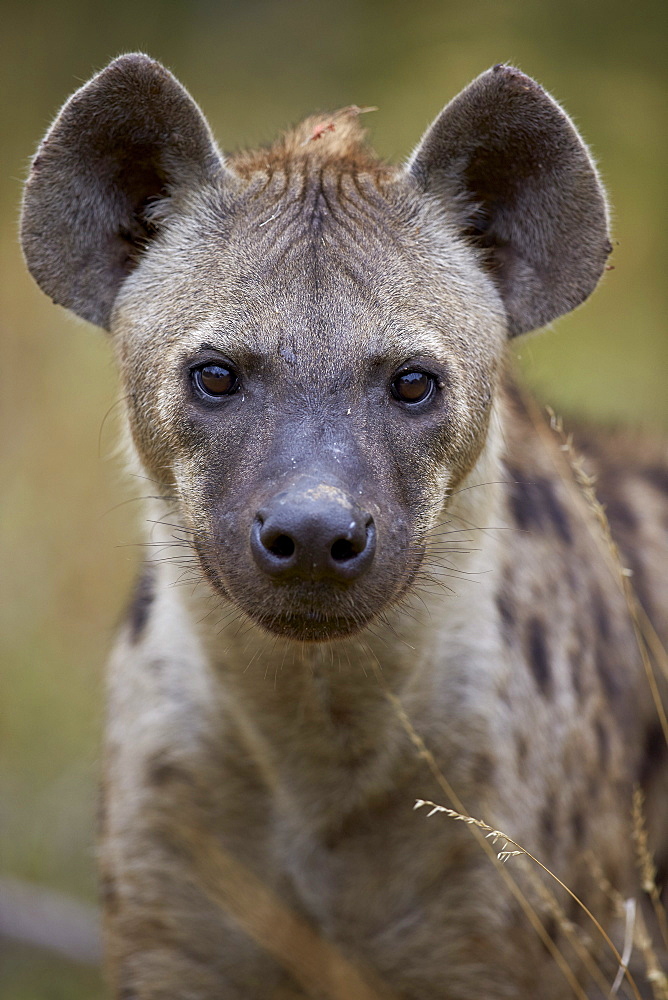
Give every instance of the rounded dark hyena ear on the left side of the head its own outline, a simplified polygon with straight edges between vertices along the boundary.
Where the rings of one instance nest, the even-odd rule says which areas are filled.
[[[37,151],[21,242],[54,302],[109,327],[118,290],[155,235],[156,202],[223,169],[187,91],[141,54],[114,60],[70,97]]]

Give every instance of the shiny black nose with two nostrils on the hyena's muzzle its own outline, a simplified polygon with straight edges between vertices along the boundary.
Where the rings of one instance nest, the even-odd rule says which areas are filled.
[[[371,565],[376,529],[371,514],[336,486],[302,482],[258,511],[250,545],[269,576],[346,583]]]

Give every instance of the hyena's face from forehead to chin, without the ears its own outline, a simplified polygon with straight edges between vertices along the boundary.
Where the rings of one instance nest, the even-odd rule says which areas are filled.
[[[439,223],[405,180],[309,151],[207,191],[119,297],[142,459],[212,585],[281,634],[396,599],[483,444],[502,305]]]

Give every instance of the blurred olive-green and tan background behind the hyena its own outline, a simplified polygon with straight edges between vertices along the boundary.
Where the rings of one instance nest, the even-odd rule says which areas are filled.
[[[4,0],[0,14],[1,868],[91,903],[103,664],[140,513],[115,452],[105,337],[50,304],[16,244],[22,179],[57,108],[141,49],[224,149],[375,104],[376,148],[399,159],[473,76],[519,65],[590,142],[615,236],[592,301],[518,343],[527,378],[559,411],[665,428],[665,2]],[[102,995],[94,969],[25,945],[0,942],[0,969],[7,1000]]]

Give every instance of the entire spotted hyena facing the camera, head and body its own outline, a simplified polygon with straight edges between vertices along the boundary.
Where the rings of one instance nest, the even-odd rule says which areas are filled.
[[[402,167],[360,111],[223,158],[180,84],[124,56],[32,166],[28,266],[110,331],[154,484],[109,674],[125,1000],[607,992],[616,960],[573,900],[418,797],[505,831],[620,950],[636,787],[666,875],[634,634],[656,651],[645,614],[668,633],[666,454],[582,439],[624,575],[506,362],[604,270],[596,169],[505,65]]]

